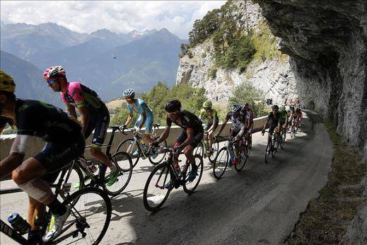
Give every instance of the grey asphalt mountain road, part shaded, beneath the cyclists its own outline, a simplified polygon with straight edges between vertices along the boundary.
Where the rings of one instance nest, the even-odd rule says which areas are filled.
[[[173,190],[156,213],[146,211],[142,200],[153,166],[140,161],[127,191],[112,199],[103,244],[278,244],[325,185],[333,154],[314,113],[305,114],[296,138],[287,137],[284,149],[265,164],[266,137],[255,133],[243,171],[227,169],[219,181],[205,160],[197,191],[187,195],[182,188]],[[1,188],[10,185],[4,181]],[[26,200],[24,193],[1,195],[1,219],[16,211],[25,217]],[[12,244],[4,234],[0,243]]]

